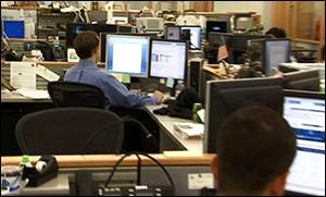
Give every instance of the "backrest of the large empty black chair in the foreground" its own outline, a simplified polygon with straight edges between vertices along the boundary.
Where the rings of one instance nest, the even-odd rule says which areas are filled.
[[[120,153],[124,123],[108,110],[55,108],[24,115],[16,124],[22,153]]]

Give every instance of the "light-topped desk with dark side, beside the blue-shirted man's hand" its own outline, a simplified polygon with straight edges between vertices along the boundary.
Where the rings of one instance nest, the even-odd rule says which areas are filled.
[[[172,118],[168,115],[159,115],[154,114],[153,110],[165,107],[164,104],[161,106],[146,106],[146,109],[151,114],[151,116],[156,120],[156,122],[161,125],[162,128],[164,128],[163,134],[166,136],[161,137],[161,145],[163,150],[174,148],[174,149],[186,149],[197,152],[203,152],[203,139],[184,139],[180,136],[176,135],[174,132],[174,125],[175,122],[192,122],[187,119],[178,119],[178,118]],[[170,141],[168,139],[173,140]],[[172,147],[172,144],[176,144],[176,147]]]

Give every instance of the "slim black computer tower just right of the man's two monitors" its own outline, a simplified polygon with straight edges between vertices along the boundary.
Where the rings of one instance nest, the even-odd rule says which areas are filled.
[[[188,69],[187,86],[189,88],[193,88],[197,93],[199,93],[200,89],[202,67],[203,67],[202,59],[190,60],[189,69]]]

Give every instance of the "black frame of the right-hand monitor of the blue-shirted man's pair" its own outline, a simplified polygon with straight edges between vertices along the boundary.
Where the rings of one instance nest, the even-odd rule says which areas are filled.
[[[166,76],[152,76],[151,71],[152,71],[152,47],[153,47],[153,41],[170,41],[170,42],[179,42],[179,44],[185,44],[186,45],[186,50],[185,50],[185,69],[184,69],[184,78],[173,78],[173,77],[166,77]],[[177,81],[187,81],[187,71],[188,71],[188,49],[189,49],[189,42],[186,40],[174,40],[174,39],[151,39],[150,41],[150,62],[149,62],[149,77],[151,78],[173,78]]]

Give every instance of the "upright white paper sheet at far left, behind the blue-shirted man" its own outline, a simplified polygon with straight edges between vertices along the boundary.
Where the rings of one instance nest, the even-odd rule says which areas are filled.
[[[10,84],[14,88],[36,89],[36,63],[11,62]]]

